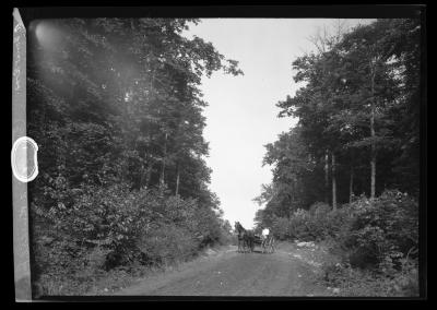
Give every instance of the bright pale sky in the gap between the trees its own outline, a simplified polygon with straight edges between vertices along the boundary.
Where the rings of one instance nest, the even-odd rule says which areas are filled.
[[[189,35],[211,41],[226,58],[239,61],[245,75],[222,72],[203,78],[204,138],[210,142],[206,164],[213,169],[211,190],[221,200],[224,218],[251,228],[261,184],[272,180],[271,167],[261,167],[263,145],[274,142],[296,119],[277,118],[275,106],[294,95],[292,62],[314,49],[308,38],[318,27],[330,27],[326,19],[204,19]],[[347,25],[364,23],[347,20]]]

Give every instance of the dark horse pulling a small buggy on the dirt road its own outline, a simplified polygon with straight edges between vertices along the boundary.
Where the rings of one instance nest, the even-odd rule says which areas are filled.
[[[274,252],[273,234],[269,230],[257,235],[252,230],[245,229],[239,222],[235,223],[235,231],[238,236],[238,252],[255,252],[255,247],[258,245],[262,253]]]

